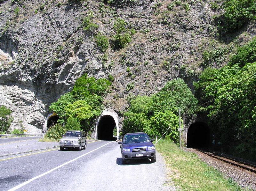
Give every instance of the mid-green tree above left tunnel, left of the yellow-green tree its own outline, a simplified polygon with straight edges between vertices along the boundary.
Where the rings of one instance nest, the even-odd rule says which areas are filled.
[[[70,92],[68,92],[60,96],[60,98],[56,102],[50,105],[49,110],[55,112],[59,116],[59,123],[64,123],[65,121],[66,114],[64,111],[64,107],[66,107],[68,104],[73,103],[74,101],[74,96]]]

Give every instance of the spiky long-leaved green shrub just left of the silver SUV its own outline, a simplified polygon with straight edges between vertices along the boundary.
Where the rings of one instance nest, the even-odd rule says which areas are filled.
[[[60,141],[62,135],[64,135],[66,131],[67,130],[62,125],[55,123],[47,130],[45,137],[53,139],[54,141]]]

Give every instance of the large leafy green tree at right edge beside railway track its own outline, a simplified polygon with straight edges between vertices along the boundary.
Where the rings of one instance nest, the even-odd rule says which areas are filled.
[[[205,96],[213,99],[207,107],[216,139],[230,154],[256,161],[256,62],[243,68],[238,64],[218,70],[205,87]]]

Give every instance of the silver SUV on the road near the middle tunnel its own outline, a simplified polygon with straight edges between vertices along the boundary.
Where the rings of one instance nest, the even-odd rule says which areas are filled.
[[[81,151],[86,148],[86,134],[84,131],[67,131],[60,139],[60,151],[64,148],[76,148]]]

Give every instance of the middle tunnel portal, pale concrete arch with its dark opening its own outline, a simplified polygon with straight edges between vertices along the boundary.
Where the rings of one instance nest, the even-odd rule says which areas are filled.
[[[113,130],[116,128],[116,137]],[[119,139],[118,115],[112,109],[104,110],[96,120],[94,139],[116,140]]]

